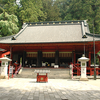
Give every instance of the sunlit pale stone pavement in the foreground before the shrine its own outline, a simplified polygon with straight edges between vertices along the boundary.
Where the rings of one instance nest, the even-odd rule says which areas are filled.
[[[100,100],[100,87],[71,79],[0,79],[0,100]]]

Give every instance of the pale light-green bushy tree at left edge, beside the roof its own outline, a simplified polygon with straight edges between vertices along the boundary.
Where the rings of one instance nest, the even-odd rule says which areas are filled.
[[[16,34],[19,31],[18,19],[15,15],[6,12],[0,14],[0,37]]]

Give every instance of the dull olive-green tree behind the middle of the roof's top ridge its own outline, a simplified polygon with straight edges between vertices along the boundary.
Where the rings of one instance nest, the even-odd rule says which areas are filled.
[[[42,0],[43,12],[47,15],[46,21],[59,21],[60,12],[54,0]]]

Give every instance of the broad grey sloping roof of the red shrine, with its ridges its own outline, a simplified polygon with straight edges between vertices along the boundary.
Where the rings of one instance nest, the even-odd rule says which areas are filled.
[[[13,38],[0,43],[57,43],[93,41],[86,20],[25,23]],[[97,38],[96,40],[100,40]]]

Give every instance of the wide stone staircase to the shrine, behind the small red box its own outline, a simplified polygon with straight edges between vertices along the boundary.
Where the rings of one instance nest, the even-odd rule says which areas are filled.
[[[49,79],[69,79],[69,69],[67,68],[38,68],[36,70],[50,70],[48,74]],[[20,74],[17,74],[15,78],[36,78],[37,74],[34,73],[33,68],[23,68]]]

